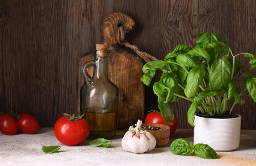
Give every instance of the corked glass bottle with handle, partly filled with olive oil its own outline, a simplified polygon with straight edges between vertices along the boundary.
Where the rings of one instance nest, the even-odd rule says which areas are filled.
[[[118,87],[108,79],[108,45],[96,44],[94,60],[82,67],[84,86],[81,89],[81,115],[89,123],[88,139],[112,139],[117,131]],[[88,68],[93,66],[93,76]]]

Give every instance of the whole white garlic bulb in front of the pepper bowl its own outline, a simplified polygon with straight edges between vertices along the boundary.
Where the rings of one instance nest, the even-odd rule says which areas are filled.
[[[127,152],[144,153],[154,149],[157,141],[155,137],[144,131],[140,126],[142,121],[138,120],[135,128],[129,129],[122,139],[122,147]]]

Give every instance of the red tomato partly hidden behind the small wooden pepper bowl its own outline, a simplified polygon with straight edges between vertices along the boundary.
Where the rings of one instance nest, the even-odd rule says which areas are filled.
[[[170,121],[169,117],[168,117],[168,120]],[[145,123],[157,123],[157,124],[170,126],[170,136],[172,136],[172,134],[177,129],[177,125],[178,125],[177,117],[174,115],[173,121],[170,121],[170,122],[172,122],[173,125],[169,125],[168,123],[166,123],[160,112],[150,112],[145,118]]]

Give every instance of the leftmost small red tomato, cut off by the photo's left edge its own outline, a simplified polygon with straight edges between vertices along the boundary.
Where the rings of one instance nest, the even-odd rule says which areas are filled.
[[[18,131],[18,124],[14,117],[8,114],[0,116],[0,131],[7,135],[13,135]]]

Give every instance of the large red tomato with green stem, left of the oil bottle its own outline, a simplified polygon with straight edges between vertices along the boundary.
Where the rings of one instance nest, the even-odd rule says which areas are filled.
[[[82,117],[77,121],[62,116],[54,125],[54,134],[59,142],[67,146],[74,146],[86,141],[90,128]]]

